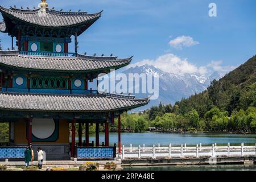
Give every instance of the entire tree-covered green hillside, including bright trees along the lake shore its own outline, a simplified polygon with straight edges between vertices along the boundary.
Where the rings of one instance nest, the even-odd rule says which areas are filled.
[[[144,131],[222,131],[255,133],[256,55],[245,64],[214,80],[203,93],[175,105],[151,107],[143,114],[124,114],[123,127]]]

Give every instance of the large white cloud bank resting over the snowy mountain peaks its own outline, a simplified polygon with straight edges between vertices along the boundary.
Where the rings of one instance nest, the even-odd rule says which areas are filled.
[[[204,75],[207,72],[205,67],[197,67],[188,62],[187,59],[180,59],[172,53],[159,56],[156,60],[142,60],[138,63],[131,64],[129,67],[136,67],[142,65],[152,65],[161,69],[164,72],[183,75],[184,73],[200,73]]]

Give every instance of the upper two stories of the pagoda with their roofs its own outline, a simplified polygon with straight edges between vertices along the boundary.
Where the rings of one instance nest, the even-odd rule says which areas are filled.
[[[100,13],[48,9],[46,1],[30,10],[0,6],[0,31],[16,39],[18,51],[0,51],[0,89],[3,92],[84,94],[98,93],[100,73],[128,65],[132,57],[88,56],[77,53],[77,37],[101,16]],[[75,50],[69,51],[75,36]]]

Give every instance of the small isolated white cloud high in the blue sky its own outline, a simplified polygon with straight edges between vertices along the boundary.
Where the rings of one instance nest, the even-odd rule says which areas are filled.
[[[177,38],[169,42],[170,46],[176,49],[182,49],[183,47],[191,47],[199,44],[191,36],[178,36]]]

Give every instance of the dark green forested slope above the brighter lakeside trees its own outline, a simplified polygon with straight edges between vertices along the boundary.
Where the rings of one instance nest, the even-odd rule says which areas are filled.
[[[177,102],[176,105],[180,107],[182,114],[196,109],[203,117],[211,107],[217,106],[230,115],[233,111],[246,110],[249,106],[256,105],[255,82],[256,56],[219,81],[214,80],[207,91]]]

